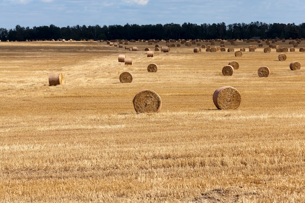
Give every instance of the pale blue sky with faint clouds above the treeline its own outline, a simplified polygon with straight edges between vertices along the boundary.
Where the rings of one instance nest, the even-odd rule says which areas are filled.
[[[0,28],[305,22],[304,0],[0,0]]]

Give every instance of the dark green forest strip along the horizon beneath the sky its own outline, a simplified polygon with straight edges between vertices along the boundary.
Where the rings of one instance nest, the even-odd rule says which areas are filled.
[[[249,38],[305,38],[305,23],[295,25],[263,22],[234,23],[226,25],[213,24],[155,24],[155,25],[99,25],[95,26],[50,26],[21,27],[16,25],[14,29],[0,28],[1,41],[25,41],[25,40],[114,40],[114,39],[249,39]]]

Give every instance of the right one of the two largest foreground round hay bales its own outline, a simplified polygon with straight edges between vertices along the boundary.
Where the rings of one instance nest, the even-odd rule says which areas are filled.
[[[224,86],[218,88],[213,93],[213,102],[217,109],[233,110],[239,107],[241,95],[237,89],[230,86]]]

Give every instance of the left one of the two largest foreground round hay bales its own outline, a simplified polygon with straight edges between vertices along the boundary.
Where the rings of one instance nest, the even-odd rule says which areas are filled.
[[[161,97],[152,90],[142,90],[133,98],[136,113],[159,112],[162,107]]]

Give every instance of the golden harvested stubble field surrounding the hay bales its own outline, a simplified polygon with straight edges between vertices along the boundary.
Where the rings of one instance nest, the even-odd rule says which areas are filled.
[[[240,41],[241,57],[195,45],[147,57],[154,45],[0,42],[0,202],[304,202],[305,54],[279,61],[266,44],[249,52],[257,42]],[[224,76],[232,60],[240,68]],[[125,71],[132,83],[119,82]],[[53,73],[62,85],[49,86]],[[237,110],[215,107],[222,86],[241,93]],[[162,109],[136,114],[133,97],[147,89]]]

